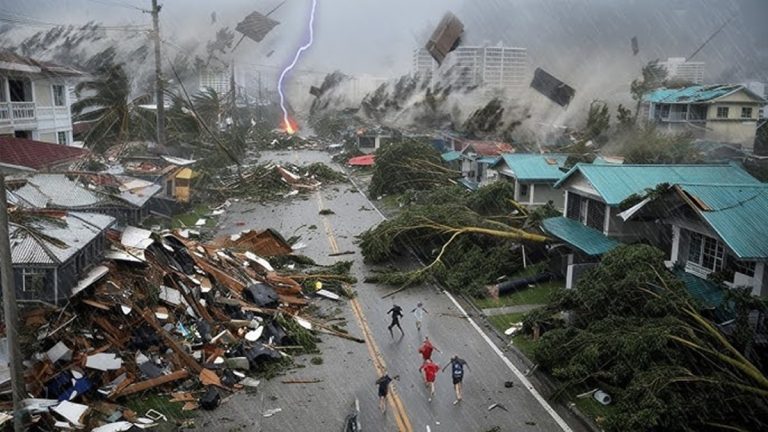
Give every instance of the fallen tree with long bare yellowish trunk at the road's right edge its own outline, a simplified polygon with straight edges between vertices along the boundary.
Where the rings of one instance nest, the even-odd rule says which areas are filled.
[[[452,291],[480,295],[499,276],[520,269],[517,245],[546,240],[527,223],[541,215],[529,214],[513,197],[513,186],[501,181],[472,193],[450,186],[415,194],[404,211],[361,234],[360,247],[369,263],[386,263],[410,249],[428,264],[367,280],[405,288],[436,277]]]

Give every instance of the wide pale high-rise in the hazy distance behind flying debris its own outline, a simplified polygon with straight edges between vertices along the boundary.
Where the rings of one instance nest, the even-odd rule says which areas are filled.
[[[524,87],[528,78],[528,51],[504,46],[460,46],[444,62],[451,83],[460,87],[481,86],[497,89]],[[437,62],[426,49],[413,54],[413,70],[432,75]]]

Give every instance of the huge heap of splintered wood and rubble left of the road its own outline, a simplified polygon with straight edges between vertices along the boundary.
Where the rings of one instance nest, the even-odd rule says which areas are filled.
[[[229,393],[258,386],[253,375],[314,351],[314,332],[360,342],[305,310],[310,297],[340,298],[329,289],[354,282],[349,263],[314,266],[314,273],[285,265],[292,274],[281,273],[262,256],[283,264],[299,257],[272,230],[209,244],[185,231],[134,227],[109,237],[108,271],[79,286],[61,309],[22,313],[32,397],[24,406],[43,429],[167,421],[168,413],[123,405],[146,392],[172,392],[167,399],[183,411],[213,409]]]

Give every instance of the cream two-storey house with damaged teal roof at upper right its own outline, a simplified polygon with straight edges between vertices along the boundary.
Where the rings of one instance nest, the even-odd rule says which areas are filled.
[[[737,144],[751,152],[758,110],[765,105],[739,84],[660,88],[644,98],[648,120],[670,132],[692,132],[696,138]]]

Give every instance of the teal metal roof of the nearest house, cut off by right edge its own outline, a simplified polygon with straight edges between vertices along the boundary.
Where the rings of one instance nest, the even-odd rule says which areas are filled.
[[[768,185],[680,184],[677,188],[738,258],[768,258]]]

